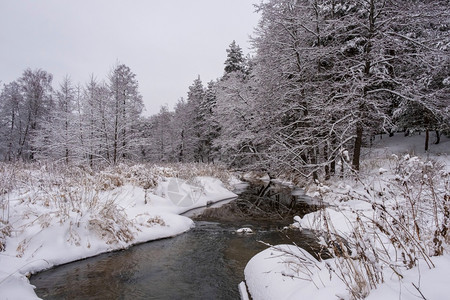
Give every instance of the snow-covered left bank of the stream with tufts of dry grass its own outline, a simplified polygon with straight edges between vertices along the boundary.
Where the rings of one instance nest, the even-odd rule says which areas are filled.
[[[0,299],[37,299],[28,274],[181,234],[194,225],[181,213],[236,196],[212,177],[157,176],[146,186],[142,178],[111,173],[102,175],[103,185],[74,177],[76,184],[61,186],[45,178],[53,174],[46,167],[3,171],[24,179],[14,178],[14,188],[2,194],[0,220],[8,223],[0,223]]]

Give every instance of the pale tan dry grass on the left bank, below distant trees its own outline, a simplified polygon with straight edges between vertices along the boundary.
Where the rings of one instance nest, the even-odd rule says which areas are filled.
[[[83,165],[44,161],[0,163],[0,251],[5,249],[12,231],[10,197],[30,210],[24,212],[28,223],[15,230],[23,231],[36,223],[46,228],[57,220],[69,224],[67,241],[79,245],[77,228],[83,219],[89,230],[107,243],[129,243],[134,238],[135,220],[129,220],[117,205],[114,189],[129,184],[143,188],[147,195],[147,191],[169,177],[200,186],[197,176],[213,176],[227,184],[231,174],[223,166],[207,164],[119,164],[93,170]],[[147,224],[165,226],[158,218],[149,218]],[[26,249],[27,243],[23,242],[19,252]]]

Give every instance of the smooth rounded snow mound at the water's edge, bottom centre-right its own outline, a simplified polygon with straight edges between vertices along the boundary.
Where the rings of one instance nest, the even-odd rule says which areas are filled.
[[[324,262],[294,245],[278,245],[255,255],[245,267],[253,299],[333,299],[345,286]]]

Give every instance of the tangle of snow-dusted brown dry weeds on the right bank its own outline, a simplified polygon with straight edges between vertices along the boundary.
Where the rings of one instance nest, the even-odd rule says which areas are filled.
[[[405,155],[394,157],[391,174],[380,173],[359,178],[344,194],[323,194],[351,226],[343,232],[328,210],[322,212],[326,249],[336,257],[333,271],[356,299],[383,283],[385,270],[402,278],[419,260],[434,267],[430,256],[442,255],[449,244],[449,174],[442,165]]]

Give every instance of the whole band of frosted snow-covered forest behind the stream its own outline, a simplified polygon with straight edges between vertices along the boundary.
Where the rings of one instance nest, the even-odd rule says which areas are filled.
[[[198,76],[174,110],[144,117],[136,74],[54,86],[27,69],[0,95],[0,159],[90,167],[225,163],[272,176],[358,171],[381,133],[449,134],[448,1],[272,0],[256,5],[254,52],[233,41],[223,76]],[[195,78],[196,76],[193,76]]]

